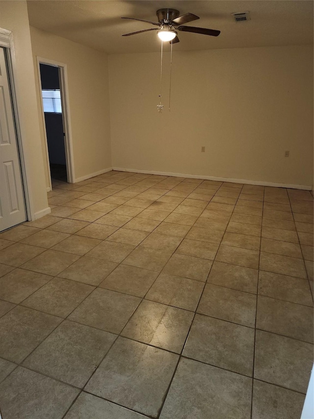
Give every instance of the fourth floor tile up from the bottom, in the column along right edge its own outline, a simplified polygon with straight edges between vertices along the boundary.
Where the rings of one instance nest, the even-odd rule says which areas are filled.
[[[309,281],[286,275],[260,271],[259,294],[290,303],[313,306]]]

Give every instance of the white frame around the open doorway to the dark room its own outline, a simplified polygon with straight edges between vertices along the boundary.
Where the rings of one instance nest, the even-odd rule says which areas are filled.
[[[69,90],[68,90],[68,73],[67,65],[55,61],[49,58],[43,58],[36,56],[37,61],[37,74],[38,74],[38,83],[39,83],[39,93],[40,93],[40,104],[41,104],[41,113],[42,113],[42,123],[45,136],[45,149],[46,149],[46,162],[47,170],[49,177],[49,188],[47,190],[52,190],[51,183],[51,173],[50,173],[50,163],[49,163],[49,153],[48,153],[48,140],[45,124],[45,113],[43,98],[41,95],[41,75],[40,75],[40,64],[52,65],[58,67],[59,69],[59,82],[60,82],[60,93],[61,93],[61,106],[62,106],[62,122],[63,122],[63,131],[64,131],[64,148],[65,148],[65,160],[67,167],[67,179],[68,183],[74,183],[75,181],[75,171],[74,171],[74,162],[73,162],[73,144],[72,144],[72,129],[70,124],[70,107],[69,107]]]

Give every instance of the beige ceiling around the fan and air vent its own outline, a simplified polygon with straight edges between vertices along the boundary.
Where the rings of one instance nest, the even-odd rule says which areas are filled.
[[[200,17],[186,26],[221,30],[218,37],[179,32],[177,51],[313,43],[312,0],[29,0],[27,7],[31,26],[107,54],[159,51],[155,31],[121,36],[152,25],[120,18],[157,22],[157,9],[166,7]],[[247,10],[251,20],[235,23],[231,13]]]

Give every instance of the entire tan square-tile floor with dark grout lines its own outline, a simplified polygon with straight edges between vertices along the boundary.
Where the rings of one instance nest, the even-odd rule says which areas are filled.
[[[0,234],[3,419],[300,418],[310,192],[111,171],[49,203]]]

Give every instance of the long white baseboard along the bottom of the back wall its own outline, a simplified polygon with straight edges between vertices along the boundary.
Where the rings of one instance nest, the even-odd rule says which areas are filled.
[[[303,189],[306,191],[311,191],[312,189],[312,186],[308,186],[308,185],[292,185],[292,184],[286,184],[286,183],[263,182],[260,180],[232,179],[232,178],[227,178],[227,177],[203,176],[200,174],[168,173],[168,172],[161,172],[161,171],[155,171],[155,170],[140,170],[140,169],[129,169],[129,168],[112,168],[112,170],[129,171],[132,173],[134,172],[134,173],[157,174],[157,175],[162,175],[162,176],[188,177],[188,178],[193,178],[193,179],[216,180],[219,182],[244,183],[246,185],[272,186],[275,188]]]

